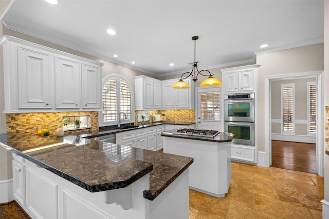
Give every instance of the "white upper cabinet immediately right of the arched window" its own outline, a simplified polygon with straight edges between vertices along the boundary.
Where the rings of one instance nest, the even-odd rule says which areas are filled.
[[[136,110],[161,109],[161,83],[157,79],[135,77],[135,108]]]

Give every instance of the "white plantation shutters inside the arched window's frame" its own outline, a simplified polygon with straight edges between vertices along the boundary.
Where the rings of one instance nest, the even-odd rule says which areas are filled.
[[[126,120],[133,118],[133,97],[130,86],[120,76],[112,76],[103,87],[102,122],[116,124],[120,112],[127,116]]]

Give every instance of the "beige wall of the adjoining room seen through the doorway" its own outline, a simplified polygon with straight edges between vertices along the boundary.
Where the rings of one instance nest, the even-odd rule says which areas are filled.
[[[307,118],[307,82],[315,82],[315,77],[271,82],[272,119],[281,120],[281,84],[295,83],[295,120]],[[295,125],[297,135],[307,135],[307,124]],[[272,124],[272,133],[281,133],[280,124]]]

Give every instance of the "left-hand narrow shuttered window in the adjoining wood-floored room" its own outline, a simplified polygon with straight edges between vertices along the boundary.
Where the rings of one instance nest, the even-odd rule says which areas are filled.
[[[282,132],[295,133],[295,84],[281,85]]]

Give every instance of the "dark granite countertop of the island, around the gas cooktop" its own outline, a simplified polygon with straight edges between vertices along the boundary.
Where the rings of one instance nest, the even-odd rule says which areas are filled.
[[[174,134],[175,130],[173,131],[163,131],[161,132],[162,136],[168,137],[177,137],[177,138],[185,138],[185,139],[192,139],[192,140],[199,140],[199,141],[206,141],[206,142],[231,142],[234,138],[234,134],[229,132],[220,132],[215,137],[202,137],[202,136],[193,136],[193,135],[181,135],[181,134]]]

